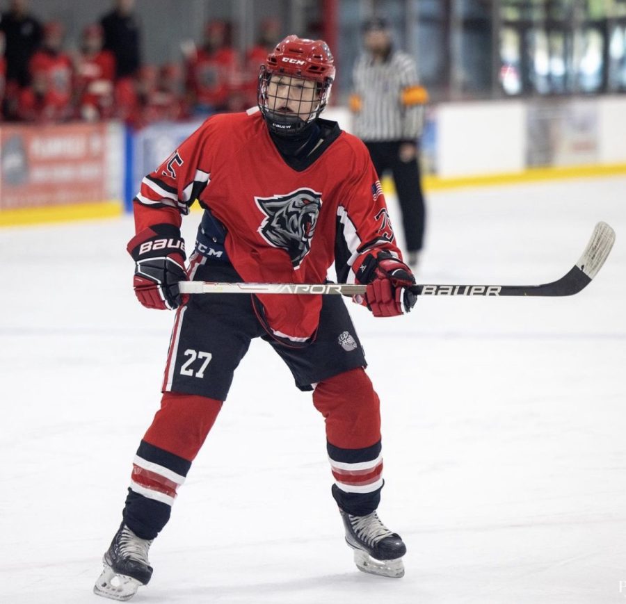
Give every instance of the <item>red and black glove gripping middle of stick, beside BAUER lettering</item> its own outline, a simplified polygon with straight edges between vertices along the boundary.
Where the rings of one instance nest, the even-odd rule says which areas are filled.
[[[413,273],[389,252],[378,252],[376,257],[369,254],[359,269],[358,280],[367,284],[363,302],[375,317],[408,313],[417,302]]]

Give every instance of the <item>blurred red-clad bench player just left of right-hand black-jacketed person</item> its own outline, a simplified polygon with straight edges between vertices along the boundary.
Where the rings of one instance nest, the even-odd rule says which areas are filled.
[[[97,23],[86,26],[76,60],[77,115],[88,122],[113,117],[115,56],[103,49],[104,32]]]

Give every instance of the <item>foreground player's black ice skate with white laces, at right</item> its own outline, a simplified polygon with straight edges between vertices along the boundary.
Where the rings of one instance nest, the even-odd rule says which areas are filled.
[[[404,576],[402,556],[406,546],[399,534],[391,532],[376,512],[351,516],[343,510],[346,543],[354,550],[354,562],[364,573],[399,579]]]

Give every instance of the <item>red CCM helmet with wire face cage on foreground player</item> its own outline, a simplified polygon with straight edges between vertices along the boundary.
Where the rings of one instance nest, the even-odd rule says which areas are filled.
[[[287,76],[278,92],[271,90],[273,76]],[[330,88],[335,79],[335,63],[328,44],[323,40],[308,40],[288,35],[268,54],[259,73],[258,104],[269,129],[282,136],[293,136],[302,131],[324,110],[330,98]],[[314,101],[302,100],[302,109],[289,109],[298,81],[314,82]],[[302,87],[299,87],[302,88]],[[289,101],[289,102],[287,102]],[[306,108],[306,109],[305,109]],[[310,111],[309,111],[310,109]]]

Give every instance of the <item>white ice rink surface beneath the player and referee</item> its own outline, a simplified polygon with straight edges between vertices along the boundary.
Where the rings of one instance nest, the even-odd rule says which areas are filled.
[[[552,281],[609,222],[613,252],[574,297],[425,297],[387,320],[351,306],[382,401],[379,511],[408,546],[403,579],[353,566],[323,421],[259,341],[134,602],[624,601],[625,192],[615,177],[428,195],[420,282]],[[134,299],[131,231],[130,218],[0,231],[2,603],[101,601],[90,592],[172,320]]]

